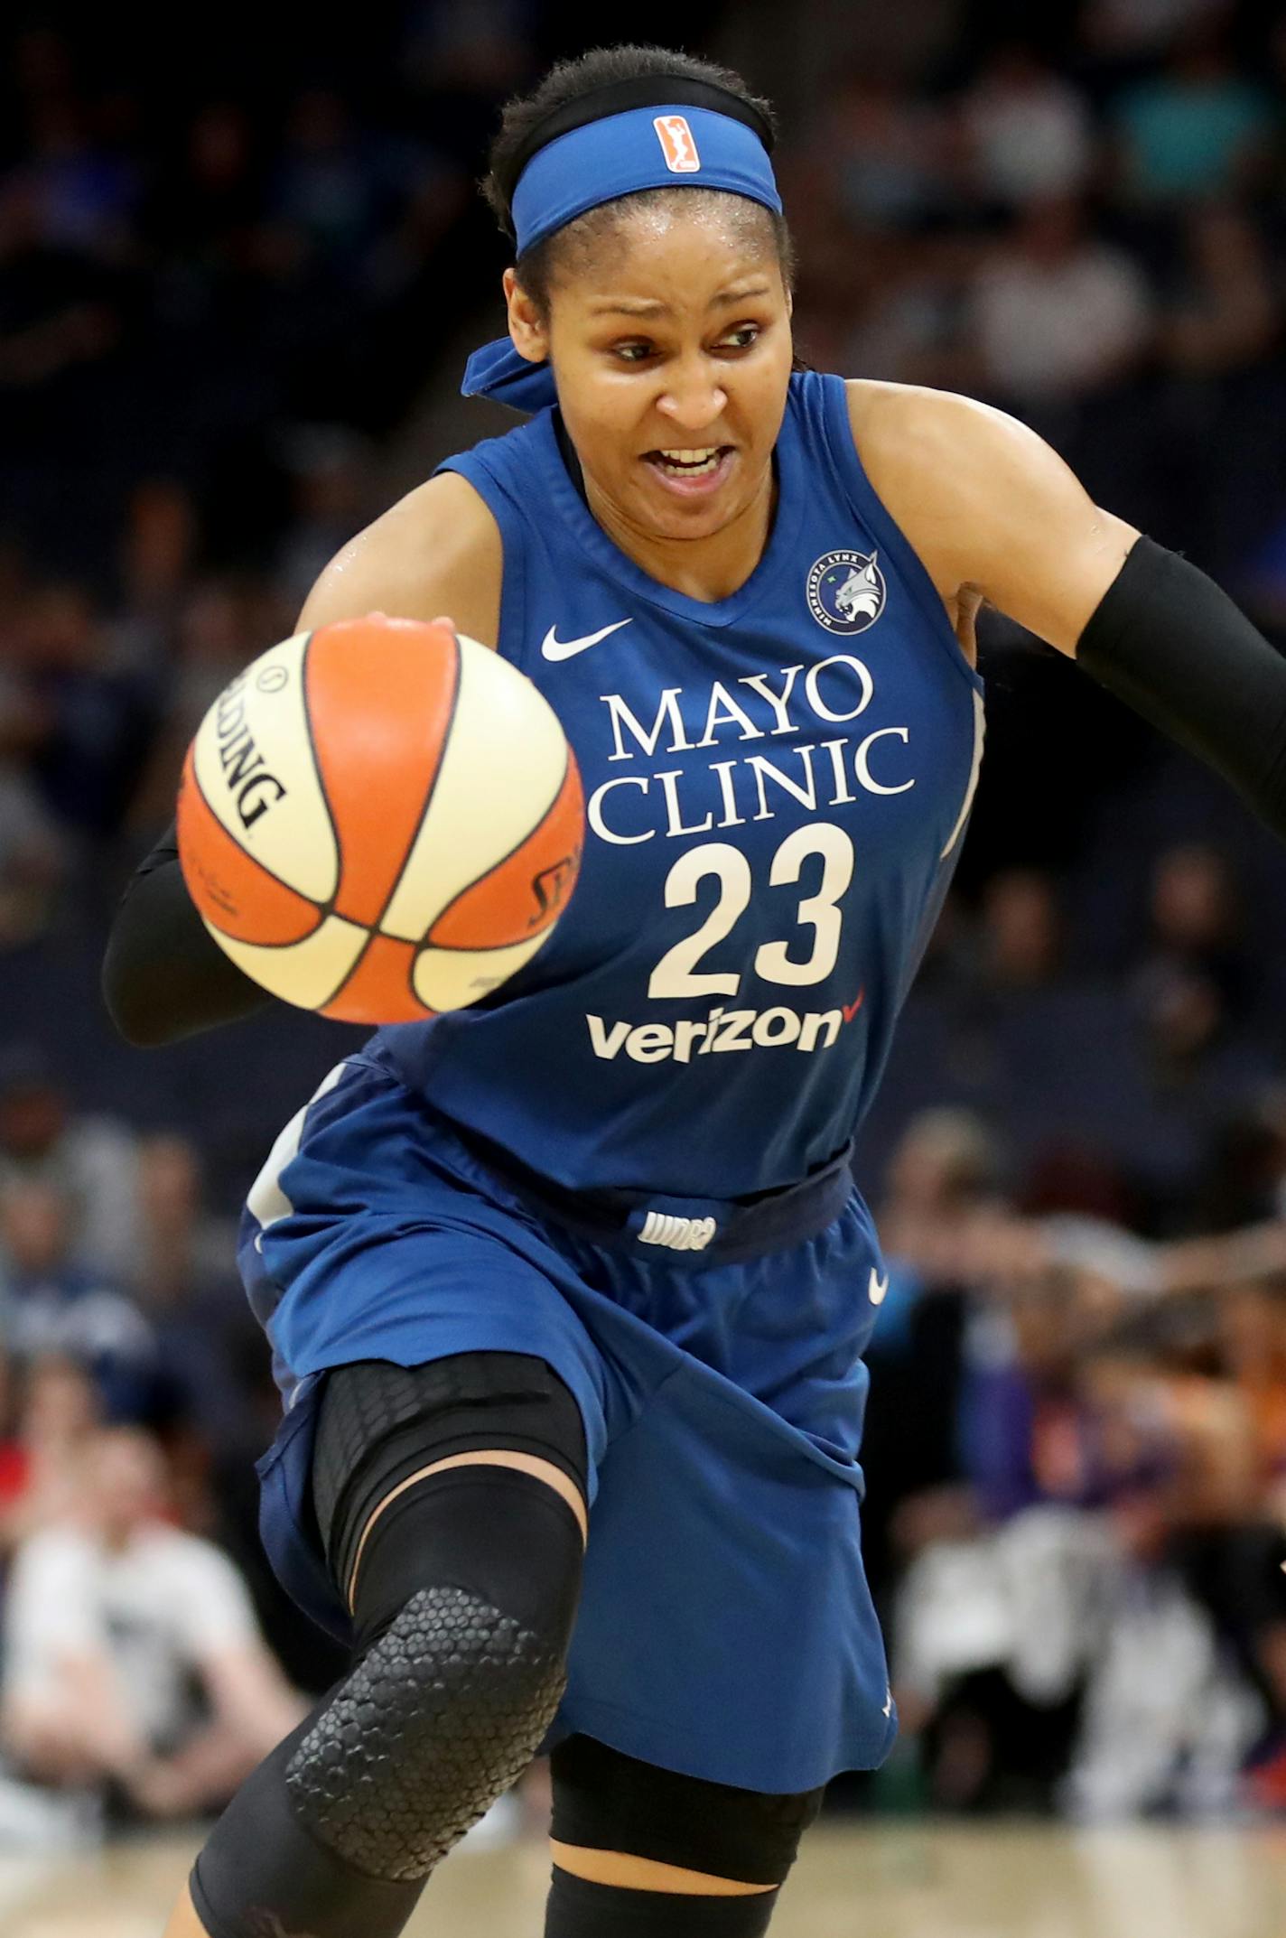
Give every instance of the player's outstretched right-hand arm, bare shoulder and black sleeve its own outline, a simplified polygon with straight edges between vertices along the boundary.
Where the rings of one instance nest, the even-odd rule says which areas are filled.
[[[1286,837],[1286,659],[1234,601],[1096,506],[1003,411],[899,386],[850,386],[850,399],[872,483],[947,605],[980,593],[1222,773]]]

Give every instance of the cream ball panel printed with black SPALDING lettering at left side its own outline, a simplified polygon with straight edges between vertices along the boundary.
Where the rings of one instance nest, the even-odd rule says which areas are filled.
[[[339,855],[308,736],[308,638],[283,640],[238,672],[192,754],[201,793],[238,847],[310,901],[329,901]]]

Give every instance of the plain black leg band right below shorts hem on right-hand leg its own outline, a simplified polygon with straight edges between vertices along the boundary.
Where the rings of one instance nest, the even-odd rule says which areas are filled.
[[[558,1843],[628,1851],[738,1884],[781,1884],[825,1789],[742,1791],[569,1736],[550,1758]]]

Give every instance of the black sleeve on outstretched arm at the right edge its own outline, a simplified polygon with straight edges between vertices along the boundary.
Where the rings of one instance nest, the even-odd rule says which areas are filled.
[[[1139,539],[1081,634],[1077,665],[1286,839],[1286,659],[1205,572]]]

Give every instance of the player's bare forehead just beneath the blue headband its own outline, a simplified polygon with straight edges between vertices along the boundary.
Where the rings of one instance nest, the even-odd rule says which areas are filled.
[[[560,295],[705,306],[717,291],[765,281],[781,293],[773,219],[746,196],[662,190],[595,209],[564,240]]]

